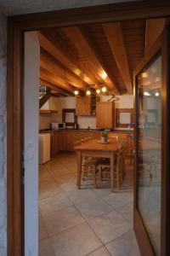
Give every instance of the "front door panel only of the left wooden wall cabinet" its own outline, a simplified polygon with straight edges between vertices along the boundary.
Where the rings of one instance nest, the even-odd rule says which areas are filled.
[[[91,96],[77,96],[76,97],[76,114],[77,115],[91,115]]]

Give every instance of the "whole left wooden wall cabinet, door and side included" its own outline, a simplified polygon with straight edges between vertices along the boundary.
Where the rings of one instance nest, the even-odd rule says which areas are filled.
[[[99,101],[99,97],[96,97],[96,96],[77,96],[76,97],[76,114],[77,115],[95,115],[97,101]]]

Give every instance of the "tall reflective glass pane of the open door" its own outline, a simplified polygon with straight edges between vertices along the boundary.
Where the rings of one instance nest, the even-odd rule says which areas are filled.
[[[138,77],[138,208],[161,255],[161,56]]]

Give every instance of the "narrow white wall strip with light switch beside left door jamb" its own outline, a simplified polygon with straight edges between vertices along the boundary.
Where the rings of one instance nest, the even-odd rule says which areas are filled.
[[[38,255],[38,84],[40,47],[25,35],[25,255]]]

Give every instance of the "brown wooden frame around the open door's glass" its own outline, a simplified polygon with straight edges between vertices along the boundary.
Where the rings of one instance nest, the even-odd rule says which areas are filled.
[[[135,69],[134,72],[134,81],[133,84],[133,97],[134,97],[134,104],[135,104],[135,124],[136,128],[134,129],[134,137],[138,137],[138,108],[139,108],[139,101],[137,95],[137,88],[138,88],[138,76],[141,71],[145,70],[145,68],[149,67],[151,63],[153,63],[156,58],[161,55],[161,73],[162,73],[162,81],[161,81],[161,255],[169,255],[169,247],[167,247],[168,242],[168,223],[169,217],[167,212],[169,212],[169,174],[167,172],[169,163],[168,160],[168,150],[169,150],[169,142],[167,141],[168,137],[168,127],[169,127],[169,119],[168,119],[168,104],[169,104],[169,91],[168,91],[168,84],[169,84],[169,73],[167,72],[167,67],[169,67],[169,63],[167,60],[169,59],[169,52],[167,52],[167,35],[169,32],[169,26],[161,33],[161,36],[156,40],[156,43],[153,45],[152,49],[150,49],[150,53],[148,52],[147,56],[139,63],[139,66]],[[156,255],[154,247],[152,247],[149,239],[149,235],[147,230],[144,227],[144,222],[142,217],[138,211],[138,143],[135,140],[135,158],[134,158],[134,230],[136,236],[139,241],[139,247],[142,252],[142,255]],[[136,195],[136,196],[135,196]]]

